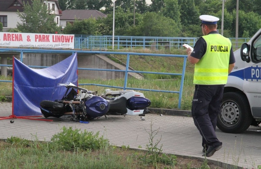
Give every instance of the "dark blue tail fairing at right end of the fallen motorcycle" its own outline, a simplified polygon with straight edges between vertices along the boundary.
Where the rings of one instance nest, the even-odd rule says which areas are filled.
[[[130,110],[142,110],[149,107],[151,101],[145,97],[132,96],[127,100],[126,106]]]

